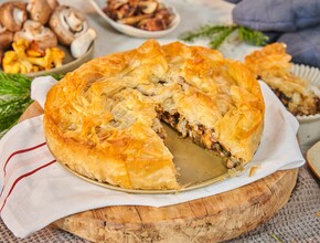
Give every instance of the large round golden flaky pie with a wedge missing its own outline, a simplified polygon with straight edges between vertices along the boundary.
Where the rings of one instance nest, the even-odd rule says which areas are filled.
[[[239,62],[149,40],[66,74],[47,94],[44,133],[56,159],[87,178],[179,189],[160,120],[235,167],[256,151],[264,110],[258,82]]]

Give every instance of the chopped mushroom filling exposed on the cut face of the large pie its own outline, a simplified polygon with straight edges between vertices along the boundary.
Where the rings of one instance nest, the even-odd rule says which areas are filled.
[[[189,137],[196,145],[204,147],[223,158],[223,160],[226,162],[227,168],[231,169],[241,163],[239,159],[234,157],[215,139],[214,129],[206,128],[202,124],[192,124],[178,112],[169,113],[167,110],[163,110],[161,107],[157,107],[156,109],[159,119],[163,120],[172,128],[178,130],[183,138]]]

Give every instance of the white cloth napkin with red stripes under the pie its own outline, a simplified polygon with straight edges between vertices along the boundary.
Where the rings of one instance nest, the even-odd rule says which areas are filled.
[[[32,83],[32,98],[44,104],[52,77]],[[274,93],[260,83],[265,103],[265,129],[260,146],[238,177],[175,194],[131,194],[108,190],[66,171],[55,162],[43,135],[42,116],[14,126],[0,140],[0,211],[6,225],[24,237],[63,216],[107,205],[163,207],[185,202],[254,182],[277,170],[297,168],[305,159],[297,141],[298,122]],[[258,166],[249,177],[252,166]]]

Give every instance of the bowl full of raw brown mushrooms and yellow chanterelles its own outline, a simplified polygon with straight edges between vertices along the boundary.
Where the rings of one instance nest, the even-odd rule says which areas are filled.
[[[84,13],[57,0],[0,4],[1,72],[64,74],[93,57],[95,39]]]

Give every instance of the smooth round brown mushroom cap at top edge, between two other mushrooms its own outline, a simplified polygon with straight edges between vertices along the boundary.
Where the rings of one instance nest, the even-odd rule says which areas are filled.
[[[46,24],[53,9],[46,0],[29,0],[26,6],[30,19]]]

